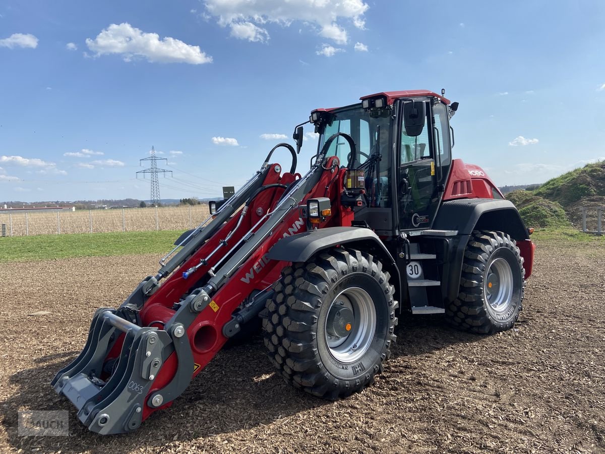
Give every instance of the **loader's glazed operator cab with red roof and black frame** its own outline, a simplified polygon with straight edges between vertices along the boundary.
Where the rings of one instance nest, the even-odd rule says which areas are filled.
[[[449,119],[457,103],[430,91],[376,93],[361,104],[312,112],[319,149],[333,134],[346,133],[327,153],[342,166],[363,169],[365,206],[355,223],[379,235],[428,229],[433,225],[451,166],[453,130]]]

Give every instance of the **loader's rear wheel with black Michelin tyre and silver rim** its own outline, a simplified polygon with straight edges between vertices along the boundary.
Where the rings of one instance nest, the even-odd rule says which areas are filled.
[[[523,309],[524,276],[515,240],[503,232],[474,231],[464,253],[460,293],[446,318],[480,334],[512,328]]]

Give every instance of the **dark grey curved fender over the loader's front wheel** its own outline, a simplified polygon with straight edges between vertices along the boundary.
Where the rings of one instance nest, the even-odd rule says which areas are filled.
[[[363,227],[326,227],[279,240],[269,250],[267,258],[283,262],[306,262],[314,254],[332,246],[347,245],[380,258],[385,271],[392,277],[395,299],[401,301],[401,275],[393,256],[373,231]]]

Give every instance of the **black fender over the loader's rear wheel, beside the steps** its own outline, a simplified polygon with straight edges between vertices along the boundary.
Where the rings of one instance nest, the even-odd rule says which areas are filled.
[[[505,232],[517,241],[529,239],[525,223],[509,200],[459,199],[443,202],[433,223],[436,230],[457,230],[448,242],[448,257],[443,263],[443,297],[453,301],[458,296],[462,261],[474,230]]]

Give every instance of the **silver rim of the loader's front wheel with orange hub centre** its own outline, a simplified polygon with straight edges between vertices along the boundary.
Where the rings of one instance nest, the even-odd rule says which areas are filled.
[[[325,343],[336,360],[359,360],[370,348],[375,331],[376,308],[368,292],[350,287],[336,295],[324,325]]]

